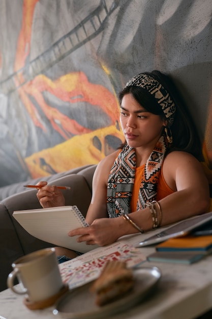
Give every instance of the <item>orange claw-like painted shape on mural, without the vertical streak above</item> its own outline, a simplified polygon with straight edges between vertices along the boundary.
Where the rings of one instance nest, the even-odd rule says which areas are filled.
[[[71,135],[90,132],[90,129],[82,127],[75,120],[68,118],[57,109],[50,107],[43,98],[43,91],[47,91],[57,98],[63,101],[69,101],[70,103],[83,101],[93,104],[95,107],[98,105],[100,109],[108,114],[111,119],[111,124],[114,124],[119,119],[118,104],[112,93],[103,86],[89,83],[83,72],[69,73],[55,81],[51,81],[51,79],[41,74],[36,76],[33,81],[25,84],[20,90],[22,89],[24,89],[27,95],[29,94],[34,97],[43,113],[49,119],[52,127],[65,139],[70,138]],[[87,94],[88,89],[90,90],[89,95]],[[84,92],[86,92],[85,96]],[[77,98],[77,100],[73,98],[79,95],[80,98]],[[96,95],[95,99],[91,97],[93,95]],[[105,101],[107,101],[107,103]],[[28,112],[31,112],[31,110]],[[33,114],[32,119],[35,125],[39,126],[37,122],[38,118],[34,118]],[[59,125],[57,123],[59,123]]]

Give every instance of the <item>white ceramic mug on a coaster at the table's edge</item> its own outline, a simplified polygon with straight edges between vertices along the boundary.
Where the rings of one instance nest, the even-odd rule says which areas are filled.
[[[51,298],[63,287],[55,249],[46,248],[18,258],[7,279],[8,288],[19,295],[27,295],[31,302]],[[21,287],[14,284],[18,279]],[[20,289],[19,289],[20,288]]]

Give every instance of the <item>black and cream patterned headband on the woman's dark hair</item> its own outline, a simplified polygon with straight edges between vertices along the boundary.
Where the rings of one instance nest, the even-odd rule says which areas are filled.
[[[176,110],[174,101],[166,89],[154,77],[144,73],[135,75],[128,81],[125,87],[130,86],[141,87],[152,94],[168,120],[168,126],[173,123],[174,112]]]

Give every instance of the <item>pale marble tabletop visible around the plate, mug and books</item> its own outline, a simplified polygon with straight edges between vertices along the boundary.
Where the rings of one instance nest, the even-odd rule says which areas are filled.
[[[149,233],[127,238],[130,244],[137,244],[147,236]],[[153,246],[139,249],[146,256],[155,250]],[[111,319],[140,319],[141,315],[142,319],[192,319],[212,308],[212,255],[191,265],[149,261],[141,265],[152,266],[157,266],[162,272],[153,294],[138,306],[111,316]],[[79,307],[81,302],[79,300]],[[0,293],[0,318],[59,319],[60,315],[54,315],[53,309],[52,306],[44,310],[29,310],[24,306],[22,296],[15,295],[10,289]]]

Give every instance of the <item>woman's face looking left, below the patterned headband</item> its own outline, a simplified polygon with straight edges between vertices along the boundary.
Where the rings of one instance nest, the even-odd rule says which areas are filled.
[[[126,94],[120,105],[120,124],[129,146],[154,148],[167,121],[147,112],[131,94]]]

